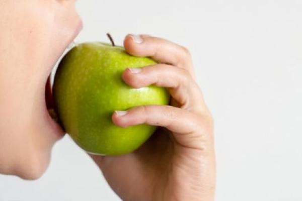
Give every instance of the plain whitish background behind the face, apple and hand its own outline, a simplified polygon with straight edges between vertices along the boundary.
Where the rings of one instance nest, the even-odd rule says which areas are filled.
[[[191,50],[215,118],[217,200],[302,200],[302,1],[80,0],[76,42],[127,33]],[[0,176],[0,200],[119,200],[65,137],[38,181]]]

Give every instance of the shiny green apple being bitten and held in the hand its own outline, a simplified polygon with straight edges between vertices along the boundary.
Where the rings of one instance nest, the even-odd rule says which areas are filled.
[[[140,105],[167,105],[165,88],[131,88],[122,80],[128,67],[156,64],[127,54],[123,47],[101,42],[82,43],[61,60],[53,97],[60,124],[82,149],[92,154],[120,155],[141,146],[157,127],[146,124],[121,128],[113,124],[116,110]]]

